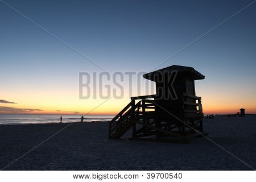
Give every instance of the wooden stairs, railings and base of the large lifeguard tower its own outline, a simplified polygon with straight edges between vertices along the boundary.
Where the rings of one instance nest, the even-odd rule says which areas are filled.
[[[131,128],[133,139],[151,135],[163,138],[168,135],[172,140],[187,140],[203,131],[201,97],[184,93],[183,100],[177,103],[184,107],[182,120],[185,122],[175,119],[168,111],[161,109],[155,100],[152,100],[154,98],[155,95],[131,97],[131,102],[109,122],[109,139],[118,139]],[[138,100],[137,104],[135,100]],[[156,107],[158,111],[155,110]]]

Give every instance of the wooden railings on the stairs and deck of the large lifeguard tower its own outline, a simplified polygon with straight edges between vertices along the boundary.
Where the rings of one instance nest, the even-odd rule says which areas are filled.
[[[154,119],[155,113],[155,101],[150,100],[155,98],[155,95],[131,97],[131,102],[127,104],[113,119],[109,122],[109,138],[120,138],[131,127],[133,127],[133,137],[136,137],[138,133],[143,131],[144,135],[158,131],[170,135],[179,137],[180,134],[176,134],[172,131],[162,129],[162,126],[153,126],[153,122],[150,119]],[[135,104],[135,100],[139,100]],[[183,94],[183,99],[179,103],[184,105],[184,114],[190,118],[203,115],[203,109],[201,105],[201,97],[196,97],[187,93]],[[143,125],[139,130],[136,129],[136,123]]]

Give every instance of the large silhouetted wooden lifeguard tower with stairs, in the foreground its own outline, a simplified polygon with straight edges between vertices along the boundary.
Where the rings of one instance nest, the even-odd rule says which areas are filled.
[[[188,141],[204,134],[201,97],[195,92],[195,80],[204,79],[201,73],[172,65],[143,77],[156,83],[156,94],[131,97],[109,122],[109,139],[120,138],[131,128],[131,139]]]

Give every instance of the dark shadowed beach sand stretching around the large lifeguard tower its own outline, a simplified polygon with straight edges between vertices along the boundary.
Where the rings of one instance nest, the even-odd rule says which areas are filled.
[[[204,119],[208,137],[256,168],[256,118]],[[0,126],[0,168],[63,127]],[[126,137],[128,137],[126,135]],[[6,170],[251,170],[205,138],[189,144],[109,140],[108,123],[73,123]]]

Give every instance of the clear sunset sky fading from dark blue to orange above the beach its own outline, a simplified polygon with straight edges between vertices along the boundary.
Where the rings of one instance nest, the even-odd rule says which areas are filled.
[[[151,71],[253,1],[5,2],[113,73]],[[104,102],[79,99],[79,72],[100,68],[1,1],[0,23],[0,113],[85,114]],[[176,64],[205,75],[196,81],[205,114],[256,113],[255,33],[253,3],[154,70]],[[90,114],[128,102],[112,98]]]

